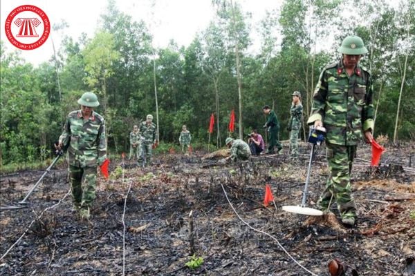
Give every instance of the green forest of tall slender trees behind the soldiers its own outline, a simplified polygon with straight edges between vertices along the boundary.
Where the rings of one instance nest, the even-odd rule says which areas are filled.
[[[77,99],[86,91],[99,96],[96,111],[106,119],[112,156],[128,151],[133,124],[147,114],[158,121],[159,150],[178,144],[183,124],[196,147],[207,146],[212,113],[211,143],[223,146],[231,110],[237,117],[233,137],[244,138],[253,128],[265,135],[265,104],[277,112],[280,139],[288,139],[291,94],[302,92],[306,121],[321,70],[340,59],[337,48],[351,34],[369,50],[360,63],[374,77],[374,136],[414,141],[415,0],[397,6],[384,0],[286,0],[257,26],[236,0],[212,5],[215,17],[186,47],[175,41],[154,47],[151,23],[133,21],[113,0],[93,37],[64,37],[39,66],[1,42],[2,170],[50,161],[66,115],[79,108]],[[53,29],[66,27],[62,21]],[[247,51],[253,28],[261,39],[258,55]],[[307,132],[304,127],[302,139]]]

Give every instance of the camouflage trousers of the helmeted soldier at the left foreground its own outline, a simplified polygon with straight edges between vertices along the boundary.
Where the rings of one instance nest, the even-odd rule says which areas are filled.
[[[69,166],[73,205],[77,208],[92,206],[95,199],[95,186],[97,182],[97,167]]]

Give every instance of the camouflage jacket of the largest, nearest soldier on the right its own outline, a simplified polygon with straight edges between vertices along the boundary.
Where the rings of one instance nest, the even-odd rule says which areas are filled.
[[[324,68],[313,95],[307,124],[320,119],[331,144],[353,146],[362,132],[374,129],[373,87],[365,68],[356,66],[349,77],[343,62]]]

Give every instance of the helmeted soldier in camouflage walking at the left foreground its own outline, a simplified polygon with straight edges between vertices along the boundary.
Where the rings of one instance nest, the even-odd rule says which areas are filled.
[[[104,118],[93,108],[100,105],[93,92],[86,92],[77,101],[81,110],[69,113],[57,149],[68,150],[73,205],[83,219],[95,199],[97,166],[107,159]]]

